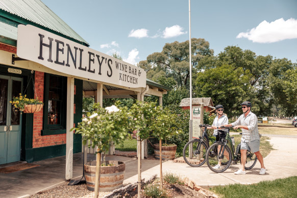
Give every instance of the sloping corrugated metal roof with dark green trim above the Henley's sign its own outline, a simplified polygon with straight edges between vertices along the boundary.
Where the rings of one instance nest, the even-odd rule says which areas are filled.
[[[61,18],[40,0],[1,0],[0,16],[19,24],[31,24],[74,42],[89,46],[78,33],[72,30]],[[5,21],[3,21],[5,22]]]

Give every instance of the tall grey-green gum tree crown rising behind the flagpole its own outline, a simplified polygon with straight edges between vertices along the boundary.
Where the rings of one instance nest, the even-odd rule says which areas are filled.
[[[209,42],[202,38],[191,39],[191,52],[193,69],[203,57],[213,55]],[[140,61],[138,65],[147,71],[149,79],[172,77],[178,87],[189,87],[189,41],[166,43],[162,52],[147,56],[146,61]]]

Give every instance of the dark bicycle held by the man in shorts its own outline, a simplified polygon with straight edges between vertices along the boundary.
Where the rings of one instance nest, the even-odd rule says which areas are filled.
[[[229,168],[231,165],[231,162],[233,160],[233,164],[237,164],[238,161],[240,161],[240,143],[236,147],[236,151],[234,149],[234,144],[232,143],[232,139],[229,135],[230,129],[232,127],[221,127],[228,129],[228,132],[226,133],[226,137],[223,138],[220,142],[215,142],[212,144],[207,153],[206,153],[206,162],[209,169],[211,169],[214,172],[224,172]],[[241,134],[241,133],[240,133]],[[212,152],[212,150],[217,150],[217,152]],[[212,155],[211,155],[212,154]],[[257,156],[252,153],[251,151],[246,151],[246,162],[244,164],[244,168],[249,170],[253,168],[257,162]],[[214,168],[218,161],[221,161],[220,168]]]

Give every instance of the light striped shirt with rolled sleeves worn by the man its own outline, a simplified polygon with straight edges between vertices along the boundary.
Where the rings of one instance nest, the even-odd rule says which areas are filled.
[[[250,142],[253,140],[260,140],[259,131],[258,131],[258,118],[257,116],[250,111],[250,113],[244,117],[244,114],[240,115],[240,117],[232,124],[232,127],[237,125],[247,126],[249,130],[241,129],[242,142]]]

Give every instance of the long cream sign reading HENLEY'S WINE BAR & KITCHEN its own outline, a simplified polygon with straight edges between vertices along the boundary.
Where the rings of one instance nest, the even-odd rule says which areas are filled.
[[[72,76],[131,88],[146,86],[142,68],[31,25],[18,25],[17,56]]]

